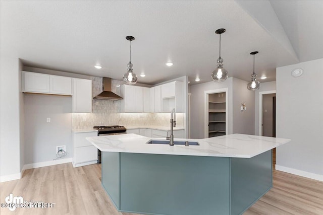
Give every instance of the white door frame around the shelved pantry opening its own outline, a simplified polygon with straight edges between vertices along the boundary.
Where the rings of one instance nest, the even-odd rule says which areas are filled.
[[[221,88],[216,90],[204,91],[204,138],[208,138],[208,94],[226,93],[226,134],[228,134],[228,102],[229,102],[229,88]]]

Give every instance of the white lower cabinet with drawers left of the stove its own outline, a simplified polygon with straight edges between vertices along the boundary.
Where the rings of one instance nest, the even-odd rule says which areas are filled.
[[[95,164],[97,149],[85,139],[88,136],[97,136],[97,131],[79,132],[72,135],[73,167]]]

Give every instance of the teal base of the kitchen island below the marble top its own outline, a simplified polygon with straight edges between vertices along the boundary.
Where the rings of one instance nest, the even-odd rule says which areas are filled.
[[[273,186],[272,153],[227,158],[102,152],[102,185],[119,211],[242,214]]]

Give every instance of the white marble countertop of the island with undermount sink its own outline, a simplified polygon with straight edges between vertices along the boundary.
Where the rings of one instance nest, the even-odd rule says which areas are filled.
[[[268,150],[286,144],[290,139],[248,134],[229,134],[205,139],[177,139],[197,141],[200,146],[146,144],[150,138],[138,134],[119,134],[86,137],[102,152],[124,152],[164,155],[188,155],[209,157],[252,158]]]

